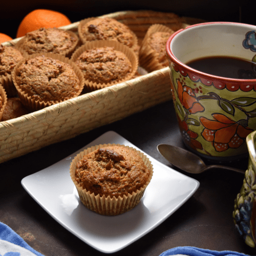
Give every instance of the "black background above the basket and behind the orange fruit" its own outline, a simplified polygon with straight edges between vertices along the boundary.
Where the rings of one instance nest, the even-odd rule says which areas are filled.
[[[255,4],[249,0],[11,0],[2,1],[0,7],[0,33],[12,38],[22,19],[35,9],[51,9],[67,15],[72,23],[81,19],[126,10],[154,10],[175,12],[180,16],[207,21],[242,22],[256,25]]]

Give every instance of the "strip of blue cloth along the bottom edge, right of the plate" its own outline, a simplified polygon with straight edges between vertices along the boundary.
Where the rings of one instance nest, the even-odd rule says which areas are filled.
[[[212,251],[190,246],[175,247],[164,251],[159,256],[169,256],[175,254],[185,254],[189,256],[247,256],[247,254],[236,251]]]

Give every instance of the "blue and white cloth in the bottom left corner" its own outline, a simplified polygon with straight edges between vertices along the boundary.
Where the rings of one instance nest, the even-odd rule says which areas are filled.
[[[44,256],[30,247],[17,233],[0,222],[0,256]]]

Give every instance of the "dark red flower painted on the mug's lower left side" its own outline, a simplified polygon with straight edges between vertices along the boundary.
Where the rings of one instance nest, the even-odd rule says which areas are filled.
[[[197,148],[199,150],[202,150],[203,149],[202,144],[199,141],[196,140],[196,138],[198,137],[198,134],[193,132],[193,131],[190,131],[188,129],[187,123],[184,120],[181,121],[181,119],[178,116],[177,116],[177,118],[178,118],[179,127],[180,127],[180,130],[181,130],[181,135],[182,135],[183,141],[188,146],[193,148],[194,150],[197,150]]]

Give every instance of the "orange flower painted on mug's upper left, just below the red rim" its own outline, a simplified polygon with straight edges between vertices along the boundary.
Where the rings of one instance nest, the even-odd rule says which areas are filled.
[[[198,102],[193,90],[186,85],[182,86],[181,82],[178,79],[176,81],[178,84],[179,100],[184,108],[188,110],[191,114],[203,112],[204,107]]]

